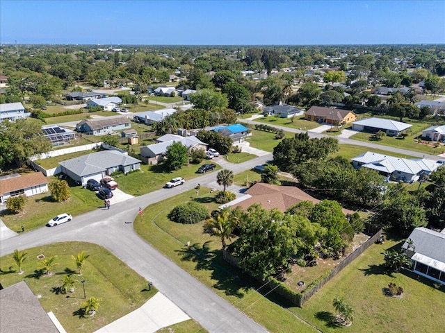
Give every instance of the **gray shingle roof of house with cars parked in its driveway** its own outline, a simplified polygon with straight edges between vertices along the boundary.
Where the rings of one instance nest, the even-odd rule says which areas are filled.
[[[59,162],[61,166],[80,177],[136,163],[140,163],[140,160],[118,151],[99,151]]]

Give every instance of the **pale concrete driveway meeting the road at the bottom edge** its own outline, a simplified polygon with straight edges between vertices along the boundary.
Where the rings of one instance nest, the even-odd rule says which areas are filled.
[[[95,333],[154,333],[163,327],[188,321],[189,316],[171,300],[156,293],[139,309],[102,327]]]

